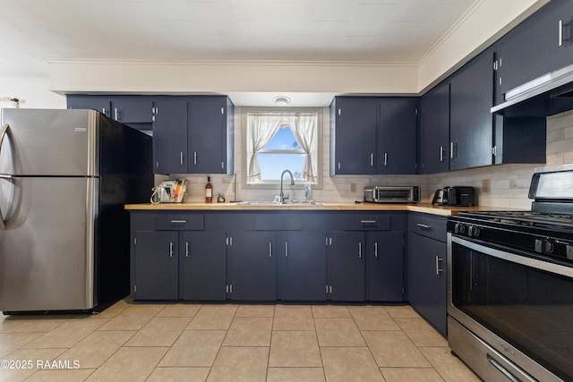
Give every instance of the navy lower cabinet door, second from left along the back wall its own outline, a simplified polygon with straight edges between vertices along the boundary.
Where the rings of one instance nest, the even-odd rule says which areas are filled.
[[[227,245],[224,231],[179,234],[179,289],[183,300],[227,299]]]

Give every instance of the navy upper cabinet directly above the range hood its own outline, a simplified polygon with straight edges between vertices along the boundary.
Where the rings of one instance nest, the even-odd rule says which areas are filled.
[[[573,64],[573,1],[552,0],[496,44],[496,105],[511,89]]]

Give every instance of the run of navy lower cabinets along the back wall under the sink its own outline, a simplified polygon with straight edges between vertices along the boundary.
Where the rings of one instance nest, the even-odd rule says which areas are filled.
[[[133,212],[133,300],[403,301],[405,216],[318,215]]]

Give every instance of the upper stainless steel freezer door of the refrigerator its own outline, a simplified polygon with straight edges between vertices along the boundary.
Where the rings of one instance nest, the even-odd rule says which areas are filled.
[[[98,176],[98,112],[4,109],[0,174]]]

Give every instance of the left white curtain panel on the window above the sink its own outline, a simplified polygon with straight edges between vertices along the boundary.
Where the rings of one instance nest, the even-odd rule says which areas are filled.
[[[247,155],[249,156],[247,176],[249,183],[261,180],[261,166],[259,166],[257,152],[272,140],[283,120],[282,115],[247,115],[247,129],[249,129],[247,135]]]

